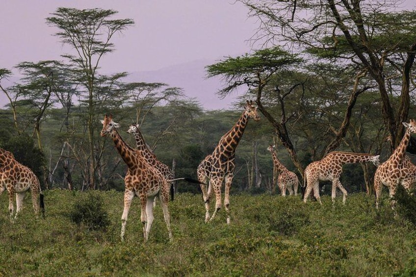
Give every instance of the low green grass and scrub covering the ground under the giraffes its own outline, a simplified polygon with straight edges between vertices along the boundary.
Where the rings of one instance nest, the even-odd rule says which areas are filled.
[[[6,194],[0,197],[0,276],[414,276],[415,226],[394,216],[388,200],[352,194],[323,205],[300,197],[231,196],[225,212],[204,223],[202,195],[170,202],[174,241],[169,242],[160,205],[149,241],[143,243],[137,198],[120,241],[123,193],[99,195],[108,226],[94,229],[68,213],[81,192],[45,191],[46,219],[36,219],[26,197],[11,224]],[[212,205],[213,206],[213,205]]]

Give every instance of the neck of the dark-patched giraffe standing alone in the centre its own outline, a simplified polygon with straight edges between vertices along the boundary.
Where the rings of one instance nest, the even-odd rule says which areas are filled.
[[[248,116],[243,113],[234,124],[233,128],[222,136],[218,143],[217,150],[219,150],[223,155],[233,156],[235,149],[243,136],[247,122]]]

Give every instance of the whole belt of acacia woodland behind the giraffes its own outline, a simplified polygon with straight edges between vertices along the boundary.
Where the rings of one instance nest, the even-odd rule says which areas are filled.
[[[207,65],[221,76],[219,97],[246,86],[229,111],[206,111],[181,88],[124,81],[128,73],[100,74],[100,60],[116,49],[113,35],[133,25],[114,10],[58,8],[47,23],[73,52],[62,60],[23,61],[0,69],[0,147],[32,168],[45,188],[123,189],[126,166],[100,119],[113,114],[125,133],[132,122],[156,156],[175,163],[176,176],[195,178],[198,163],[236,122],[246,100],[257,103],[260,122],[249,122],[236,151],[233,192],[275,192],[271,155],[278,147],[286,167],[304,168],[329,151],[388,158],[403,135],[401,122],[415,118],[416,12],[394,11],[394,1],[241,0],[258,17],[253,40],[263,49]],[[308,12],[308,16],[305,16]],[[11,86],[3,80],[22,78]],[[416,153],[412,141],[409,152]],[[347,165],[341,179],[349,192],[372,191],[372,164]],[[198,187],[178,184],[178,191]]]

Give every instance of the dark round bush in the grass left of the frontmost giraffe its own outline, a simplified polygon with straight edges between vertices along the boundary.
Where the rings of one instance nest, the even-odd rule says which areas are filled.
[[[69,212],[71,221],[88,230],[105,230],[109,225],[104,203],[96,192],[85,192],[75,201]]]

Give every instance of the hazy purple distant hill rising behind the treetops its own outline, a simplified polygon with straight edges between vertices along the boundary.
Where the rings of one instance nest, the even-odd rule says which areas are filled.
[[[232,109],[236,101],[237,92],[219,99],[216,92],[223,86],[219,77],[206,78],[205,67],[213,64],[213,60],[195,60],[188,63],[169,66],[155,71],[132,72],[126,77],[127,82],[160,82],[170,87],[180,87],[188,98],[195,99],[207,110]],[[2,85],[7,88],[17,81],[17,78],[2,80]],[[244,88],[241,89],[243,91]],[[0,92],[0,106],[8,104],[3,92]]]

